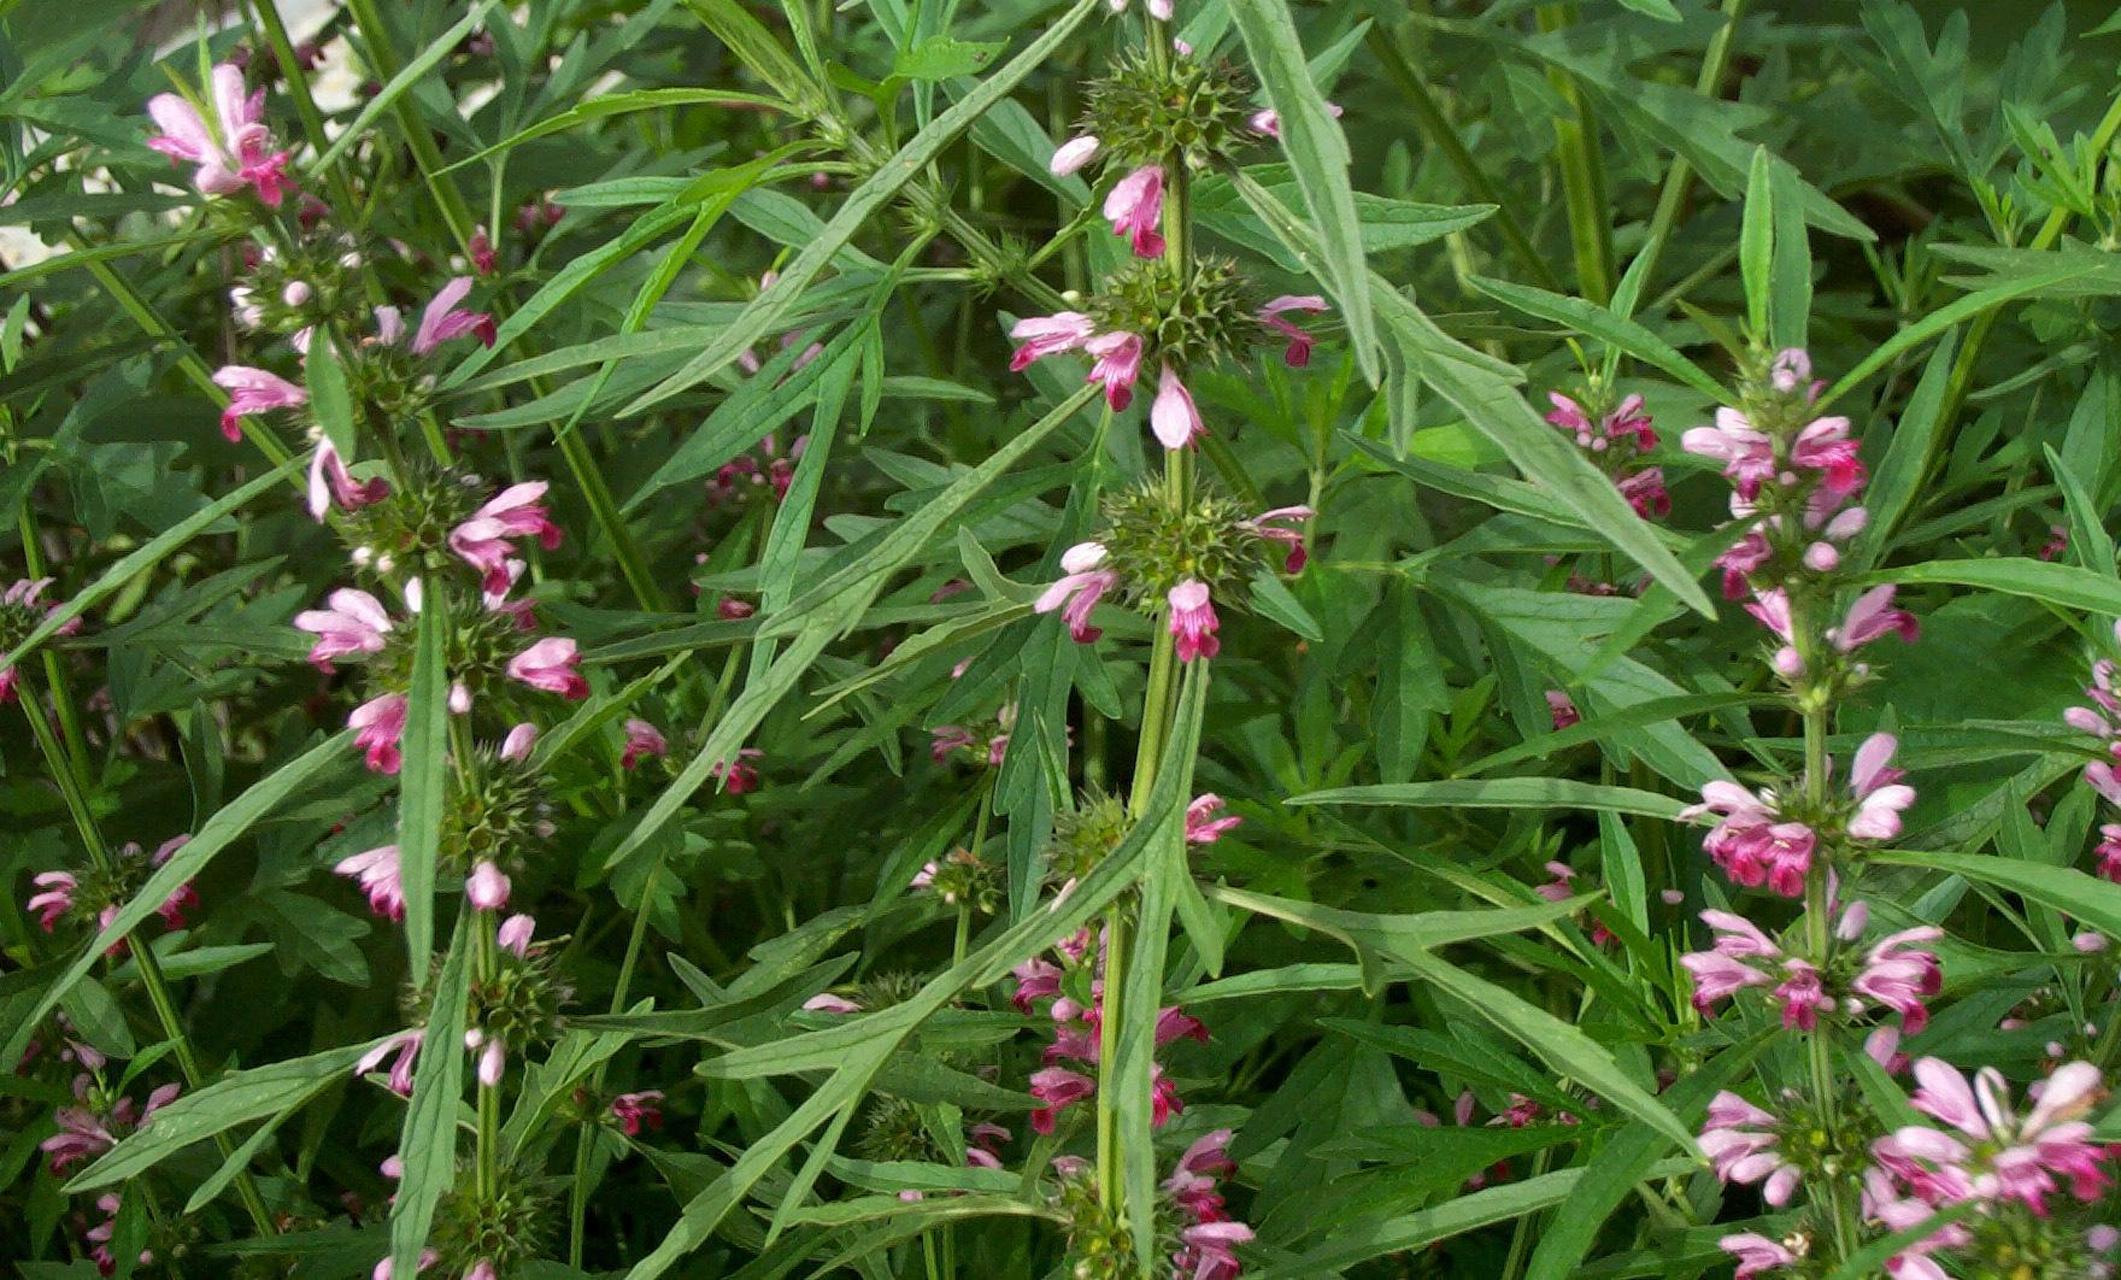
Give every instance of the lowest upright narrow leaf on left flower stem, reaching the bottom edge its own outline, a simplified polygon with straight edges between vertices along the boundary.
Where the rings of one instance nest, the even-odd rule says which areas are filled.
[[[464,1095],[464,1008],[471,1000],[471,932],[492,928],[477,911],[456,915],[456,938],[435,979],[420,1061],[411,1072],[411,1102],[399,1129],[397,1199],[390,1201],[390,1265],[397,1276],[418,1274],[420,1248],[435,1225],[435,1206],[456,1184],[456,1112]],[[414,972],[426,970],[426,957]]]

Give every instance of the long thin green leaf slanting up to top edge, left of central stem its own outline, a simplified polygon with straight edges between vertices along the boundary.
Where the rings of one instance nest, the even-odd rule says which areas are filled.
[[[689,2],[696,11],[736,8],[732,0]],[[825,265],[840,253],[840,248],[844,248],[857,231],[872,225],[882,206],[897,195],[906,183],[914,180],[929,161],[942,155],[942,151],[959,134],[963,134],[995,102],[1007,96],[1010,89],[1044,64],[1054,49],[1063,47],[1094,8],[1097,0],[1077,0],[1073,8],[1046,28],[1046,34],[1012,57],[1007,66],[982,81],[978,89],[950,104],[948,110],[935,117],[935,123],[914,134],[906,146],[897,151],[897,155],[878,166],[878,170],[846,197],[840,210],[831,214],[831,221],[825,223],[825,229],[817,236],[817,240],[806,244],[802,253],[797,253],[795,259],[781,270],[781,278],[774,280],[772,289],[764,289],[755,299],[751,299],[751,306],[747,306],[742,314],[738,314],[736,321],[721,331],[719,338],[706,344],[706,350],[687,361],[677,374],[649,388],[647,395],[634,399],[621,410],[621,414],[638,414],[689,386],[698,386],[717,369],[734,361],[736,352],[751,348],[751,344],[770,333],[781,316],[795,306],[795,299],[804,293],[804,289],[810,287],[810,280],[814,280],[817,274],[823,272]],[[749,19],[749,15],[744,17],[755,25],[755,19]]]

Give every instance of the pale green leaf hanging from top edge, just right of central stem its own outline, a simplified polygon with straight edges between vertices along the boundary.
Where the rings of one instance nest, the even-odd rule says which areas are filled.
[[[1296,19],[1285,0],[1228,0],[1230,17],[1251,55],[1266,104],[1281,117],[1281,153],[1290,159],[1296,187],[1317,231],[1321,284],[1340,304],[1355,363],[1372,384],[1381,378],[1377,321],[1370,314],[1368,265],[1362,253],[1362,221],[1349,187],[1347,134],[1326,108],[1326,98],[1304,64]]]

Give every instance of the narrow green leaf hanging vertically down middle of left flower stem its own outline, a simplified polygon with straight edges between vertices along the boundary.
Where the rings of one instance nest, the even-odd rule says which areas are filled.
[[[420,609],[405,730],[399,734],[399,881],[405,887],[405,951],[416,987],[426,985],[435,951],[435,858],[441,853],[441,811],[450,790],[448,635],[450,599],[437,582]]]

